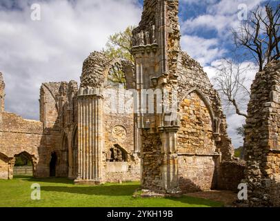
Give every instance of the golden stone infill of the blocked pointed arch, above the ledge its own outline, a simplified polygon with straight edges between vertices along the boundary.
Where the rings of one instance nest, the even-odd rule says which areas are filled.
[[[203,97],[192,91],[180,104],[181,127],[178,131],[180,152],[212,153],[214,146],[214,124],[212,111]]]

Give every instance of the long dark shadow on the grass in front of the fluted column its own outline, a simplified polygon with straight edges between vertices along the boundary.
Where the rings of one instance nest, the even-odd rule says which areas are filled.
[[[87,195],[132,195],[139,185],[110,185],[110,186],[41,186],[41,191],[77,193]]]

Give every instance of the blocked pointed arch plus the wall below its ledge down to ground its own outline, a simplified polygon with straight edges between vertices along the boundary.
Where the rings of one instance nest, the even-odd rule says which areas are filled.
[[[210,190],[215,184],[216,150],[212,111],[197,90],[180,104],[178,131],[179,186],[182,191]]]

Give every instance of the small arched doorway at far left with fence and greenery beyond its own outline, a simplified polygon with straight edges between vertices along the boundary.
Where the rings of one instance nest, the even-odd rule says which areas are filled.
[[[34,165],[29,153],[23,151],[22,153],[14,155],[14,158],[13,175],[33,176]]]

